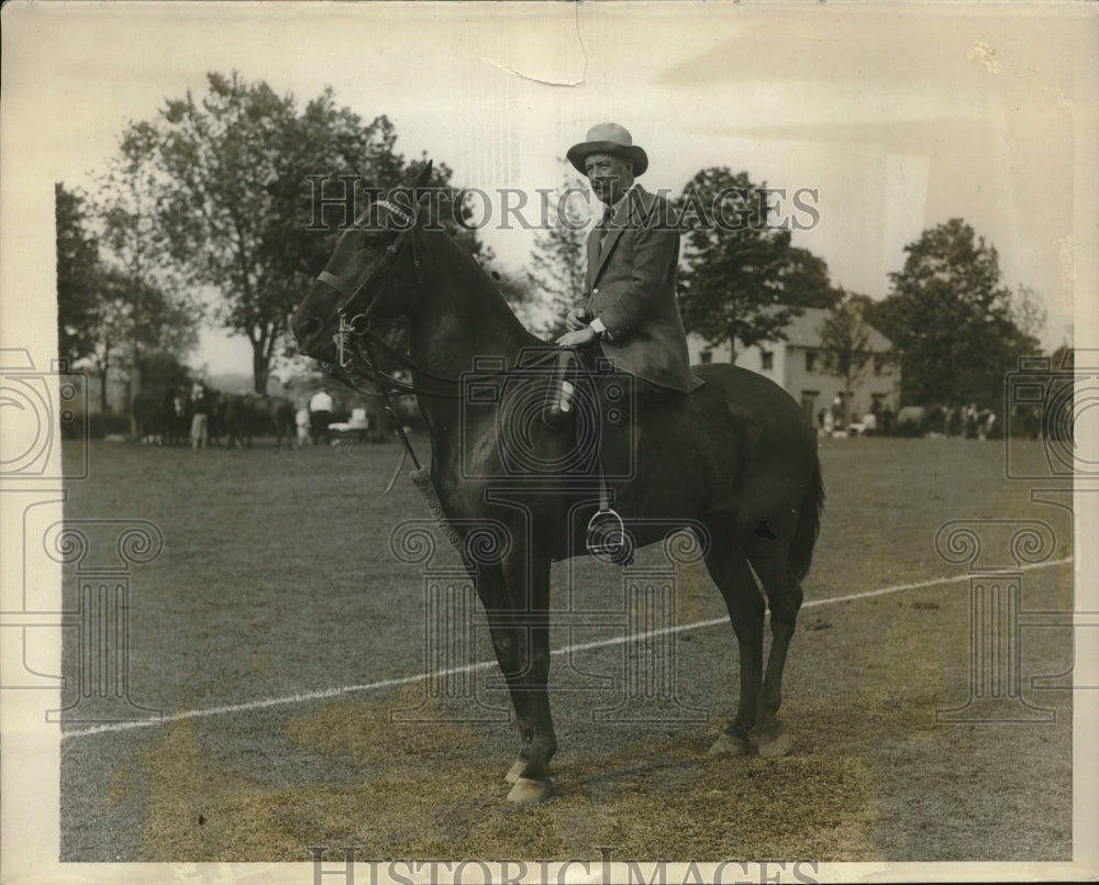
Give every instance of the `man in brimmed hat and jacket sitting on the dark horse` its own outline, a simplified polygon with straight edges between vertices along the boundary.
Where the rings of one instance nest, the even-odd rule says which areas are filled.
[[[566,156],[587,176],[606,210],[588,237],[586,301],[568,312],[568,331],[557,345],[579,349],[589,368],[593,357],[601,356],[633,378],[633,402],[629,403],[617,401],[624,398],[608,390],[613,376],[592,375],[603,411],[600,463],[604,482],[613,486],[618,509],[629,510],[629,479],[637,463],[632,450],[636,410],[703,384],[690,370],[687,334],[676,301],[679,230],[667,200],[635,182],[648,168],[648,157],[622,126],[592,126],[587,141],[573,145]],[[623,532],[618,511],[611,509],[609,496],[603,496],[588,527],[589,549],[612,558],[628,557]]]

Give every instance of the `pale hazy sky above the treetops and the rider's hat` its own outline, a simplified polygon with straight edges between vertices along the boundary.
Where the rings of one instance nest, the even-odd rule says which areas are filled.
[[[5,296],[45,285],[31,278],[48,267],[54,181],[91,187],[126,121],[233,69],[300,102],[331,86],[459,186],[553,188],[566,150],[612,120],[647,152],[651,190],[710,166],[811,188],[820,221],[795,243],[874,298],[906,244],[964,218],[1003,281],[1043,300],[1051,349],[1095,291],[1094,7],[51,2],[3,16]],[[481,236],[503,266],[529,261],[530,232]],[[0,318],[48,329],[48,292],[33,301],[4,297]],[[249,354],[207,334],[196,362],[247,373]]]

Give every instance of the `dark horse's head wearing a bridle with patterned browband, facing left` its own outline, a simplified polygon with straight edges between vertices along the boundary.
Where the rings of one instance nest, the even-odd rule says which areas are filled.
[[[401,192],[414,195],[430,177],[431,163],[411,188]],[[403,204],[380,200],[340,234],[332,257],[291,320],[301,353],[334,362],[336,340],[343,332],[360,330],[375,319],[395,317],[412,307],[410,290],[415,287],[408,286],[408,280],[417,273],[418,214],[419,204],[411,200]],[[400,298],[395,297],[398,292]]]

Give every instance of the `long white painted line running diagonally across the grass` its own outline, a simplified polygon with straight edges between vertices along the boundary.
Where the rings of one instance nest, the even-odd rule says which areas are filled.
[[[1065,565],[1072,561],[1072,556],[1066,556],[1062,560],[1052,560],[1050,562],[1024,565],[1022,568],[1048,568],[1054,565]],[[897,584],[892,587],[880,587],[876,590],[853,593],[847,594],[846,596],[831,596],[826,599],[810,599],[807,600],[801,608],[804,610],[807,608],[828,606],[834,602],[852,602],[858,599],[870,599],[875,596],[887,596],[889,594],[902,593],[904,590],[918,590],[924,587],[935,587],[941,584],[956,584],[961,580],[968,579],[968,575],[955,575],[952,577],[933,578],[932,580],[920,580],[913,584]],[[675,627],[665,627],[660,630],[648,630],[644,633],[629,637],[612,637],[611,639],[599,639],[592,642],[578,642],[573,645],[566,645],[563,649],[554,649],[550,653],[552,655],[573,654],[575,652],[589,651],[591,649],[602,649],[609,645],[622,645],[626,642],[636,641],[637,639],[646,637],[659,637],[665,635],[666,633],[685,633],[688,630],[701,630],[706,627],[717,627],[722,623],[729,623],[728,616],[724,618],[711,618],[706,621],[692,621],[691,623],[677,624]],[[400,676],[395,679],[381,679],[376,683],[366,683],[364,685],[345,685],[342,688],[325,688],[320,692],[304,692],[300,695],[287,695],[285,697],[268,698],[267,700],[249,700],[244,704],[227,704],[223,707],[207,707],[202,710],[187,710],[185,712],[170,713],[162,717],[160,719],[141,719],[133,722],[108,722],[101,726],[93,726],[91,728],[63,731],[62,740],[67,740],[69,738],[87,738],[92,734],[103,734],[112,731],[127,731],[135,728],[148,728],[149,726],[163,726],[166,722],[176,722],[181,719],[201,719],[208,716],[223,716],[225,713],[264,710],[270,707],[286,707],[291,704],[304,704],[311,700],[323,700],[324,698],[341,697],[343,695],[351,695],[357,692],[377,692],[381,688],[409,685],[410,683],[418,683],[428,678],[454,676],[460,673],[474,673],[476,671],[488,670],[496,666],[496,661],[478,661],[476,664],[466,664],[460,667],[447,667],[445,670],[431,671],[430,673],[418,673],[414,676]]]

